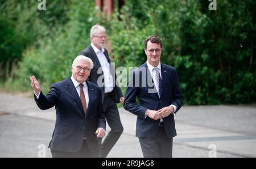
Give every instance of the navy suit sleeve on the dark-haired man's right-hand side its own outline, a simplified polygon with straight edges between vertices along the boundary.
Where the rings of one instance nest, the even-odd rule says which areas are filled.
[[[178,80],[178,77],[177,77],[177,72],[176,70],[174,69],[174,81],[173,81],[173,86],[174,88],[172,89],[172,98],[173,98],[173,101],[172,101],[172,104],[176,105],[177,109],[174,113],[176,113],[177,111],[179,111],[181,105],[183,104],[182,102],[182,93],[180,91],[180,85],[179,85],[179,80]]]

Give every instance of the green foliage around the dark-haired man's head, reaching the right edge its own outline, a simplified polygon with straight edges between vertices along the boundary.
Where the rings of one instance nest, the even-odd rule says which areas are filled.
[[[163,39],[162,62],[176,67],[185,104],[255,103],[255,1],[126,1],[112,19],[113,58],[146,61],[143,40]],[[254,67],[254,69],[253,69]]]

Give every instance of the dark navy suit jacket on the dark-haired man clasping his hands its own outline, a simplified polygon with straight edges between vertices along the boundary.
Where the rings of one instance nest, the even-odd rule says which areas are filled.
[[[163,85],[162,95],[159,98],[146,63],[130,74],[123,107],[138,116],[136,124],[137,137],[155,137],[158,132],[160,120],[152,120],[150,117],[145,119],[147,109],[159,110],[174,104],[177,107],[176,113],[182,105],[182,94],[175,68],[161,64],[161,75]],[[136,103],[137,96],[139,99],[138,104]],[[164,117],[163,123],[167,136],[169,138],[175,137],[174,114]]]

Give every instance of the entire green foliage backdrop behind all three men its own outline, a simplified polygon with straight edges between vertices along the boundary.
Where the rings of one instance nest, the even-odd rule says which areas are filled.
[[[46,91],[67,78],[73,58],[90,44],[90,27],[100,23],[112,61],[127,70],[146,61],[144,39],[161,36],[161,61],[176,67],[185,104],[255,103],[256,1],[217,1],[210,11],[204,0],[133,0],[110,18],[98,15],[90,0],[47,1],[46,11],[37,10],[37,1],[0,2],[0,75],[11,75],[6,86],[31,90],[34,74]],[[6,70],[14,60],[15,75],[12,66]]]

